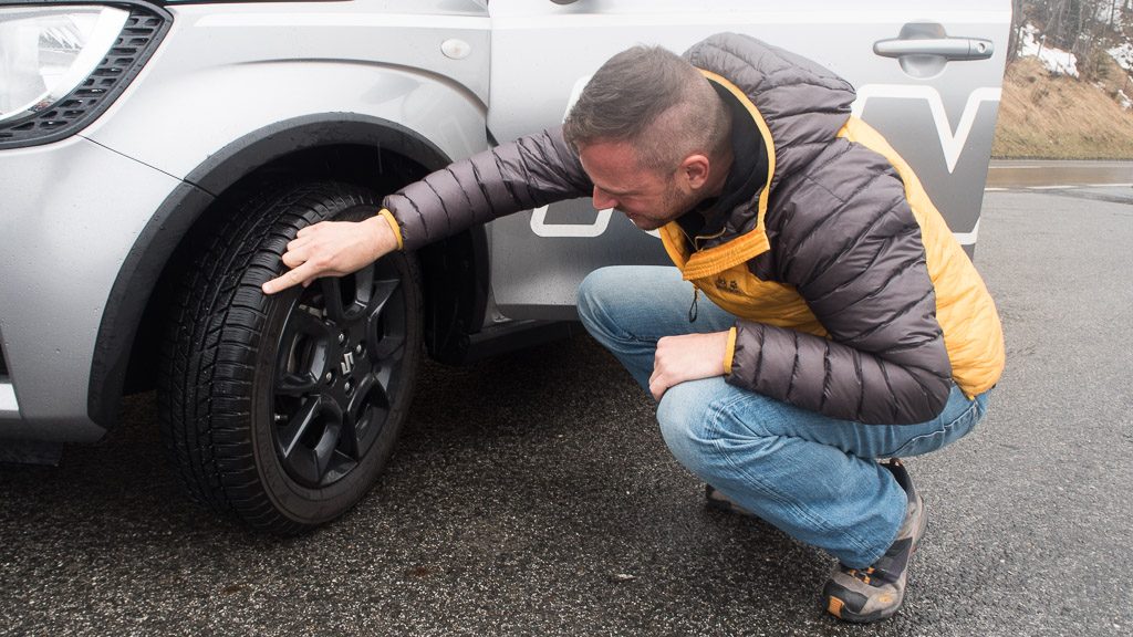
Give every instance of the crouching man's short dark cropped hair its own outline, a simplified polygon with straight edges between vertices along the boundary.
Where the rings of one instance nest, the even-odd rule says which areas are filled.
[[[708,79],[661,46],[634,46],[607,60],[563,122],[576,150],[629,142],[641,167],[658,171],[693,153],[718,156],[730,131],[731,111]]]

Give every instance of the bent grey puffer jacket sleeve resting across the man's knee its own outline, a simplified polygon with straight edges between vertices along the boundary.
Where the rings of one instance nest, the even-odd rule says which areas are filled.
[[[920,226],[878,161],[840,176],[850,195],[800,188],[776,228],[780,272],[829,339],[740,321],[729,382],[863,423],[919,423],[943,409],[952,366]]]

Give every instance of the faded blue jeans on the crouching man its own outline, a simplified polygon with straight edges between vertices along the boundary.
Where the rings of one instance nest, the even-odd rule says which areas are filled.
[[[692,286],[675,267],[617,266],[582,281],[586,329],[648,391],[661,337],[727,330],[735,317],[702,295],[689,322]],[[940,449],[983,417],[987,392],[953,388],[936,418],[915,425],[840,421],[736,388],[723,376],[670,388],[657,421],[673,456],[733,502],[844,564],[866,568],[893,543],[906,496],[876,458]]]

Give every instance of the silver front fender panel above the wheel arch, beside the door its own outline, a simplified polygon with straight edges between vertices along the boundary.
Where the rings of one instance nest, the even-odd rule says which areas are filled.
[[[174,7],[162,48],[82,134],[177,178],[267,122],[318,113],[398,122],[453,159],[484,150],[487,18],[426,18],[399,12],[404,5]],[[466,58],[443,54],[453,39]]]

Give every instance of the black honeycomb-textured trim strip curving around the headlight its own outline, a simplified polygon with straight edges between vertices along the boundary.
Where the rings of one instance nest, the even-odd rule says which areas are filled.
[[[130,5],[130,17],[114,46],[86,82],[49,111],[0,125],[0,150],[35,146],[78,133],[94,120],[142,70],[169,31],[172,17],[159,7]]]

